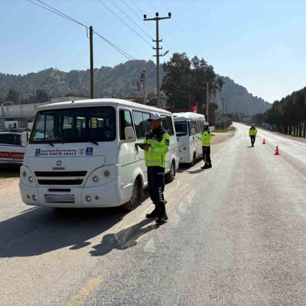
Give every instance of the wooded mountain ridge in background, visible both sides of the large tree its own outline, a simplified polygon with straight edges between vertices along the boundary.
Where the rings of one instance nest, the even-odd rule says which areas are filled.
[[[94,69],[94,95],[95,97],[137,97],[136,83],[140,81],[140,73],[145,69],[147,92],[156,93],[156,65],[153,61],[127,61],[115,67],[101,67]],[[164,75],[160,68],[161,80]],[[228,77],[223,78],[225,84],[222,92],[218,92],[212,100],[219,106],[220,97],[226,97],[229,104],[227,111],[246,113],[264,112],[271,105],[262,98],[254,97],[246,88],[236,84]],[[134,85],[132,83],[134,82]],[[20,96],[27,98],[35,94],[36,89],[44,89],[51,96],[85,95],[90,93],[90,70],[60,71],[57,68],[48,68],[37,73],[6,74],[0,73],[0,94],[7,95],[9,89],[14,87]],[[222,106],[221,106],[222,108]],[[220,107],[219,107],[220,110]]]

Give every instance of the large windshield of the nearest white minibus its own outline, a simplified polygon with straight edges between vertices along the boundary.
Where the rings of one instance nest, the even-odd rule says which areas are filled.
[[[96,142],[115,138],[113,107],[82,107],[38,112],[30,143]]]

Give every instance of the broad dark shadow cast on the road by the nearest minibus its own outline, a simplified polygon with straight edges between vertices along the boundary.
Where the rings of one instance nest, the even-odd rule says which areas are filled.
[[[82,248],[125,214],[121,208],[30,209],[0,222],[0,258],[36,256],[68,246]]]

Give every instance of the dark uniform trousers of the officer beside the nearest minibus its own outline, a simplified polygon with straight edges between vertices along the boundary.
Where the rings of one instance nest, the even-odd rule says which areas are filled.
[[[148,166],[148,189],[154,204],[165,202],[165,168],[159,166]]]

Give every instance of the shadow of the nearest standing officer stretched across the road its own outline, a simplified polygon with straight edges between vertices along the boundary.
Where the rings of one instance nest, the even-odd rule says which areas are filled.
[[[150,222],[152,219],[144,219],[116,234],[105,235],[100,244],[93,246],[95,250],[90,251],[91,256],[103,256],[113,249],[124,250],[135,246],[139,237],[159,227],[157,224],[143,227]]]

